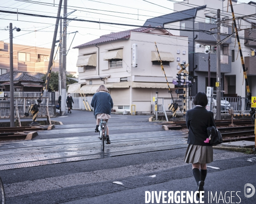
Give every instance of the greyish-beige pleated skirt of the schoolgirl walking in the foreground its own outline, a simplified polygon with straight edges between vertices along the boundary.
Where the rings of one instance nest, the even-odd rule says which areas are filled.
[[[186,154],[184,157],[184,162],[186,163],[200,163],[209,164],[213,161],[213,150],[212,146],[201,146],[195,144],[189,144]]]

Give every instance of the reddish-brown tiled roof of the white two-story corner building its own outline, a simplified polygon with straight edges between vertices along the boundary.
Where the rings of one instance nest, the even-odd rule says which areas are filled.
[[[86,42],[86,43],[84,43],[82,45],[78,45],[74,48],[81,48],[81,47],[85,47],[85,46],[88,46],[88,45],[95,45],[95,44],[99,44],[99,43],[103,43],[103,42],[109,42],[109,41],[113,41],[113,40],[128,39],[131,35],[131,31],[145,32],[147,30],[149,30],[149,28],[135,28],[135,29],[127,30],[127,31],[121,31],[121,32],[117,32],[117,33],[102,35],[101,37],[99,37],[96,40]]]

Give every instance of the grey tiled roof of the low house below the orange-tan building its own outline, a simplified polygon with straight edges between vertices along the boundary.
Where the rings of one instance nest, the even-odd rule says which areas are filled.
[[[13,72],[13,81],[26,81],[26,82],[43,82],[41,77],[44,74],[41,73],[31,73],[31,72]],[[0,75],[0,82],[9,82],[10,72]]]

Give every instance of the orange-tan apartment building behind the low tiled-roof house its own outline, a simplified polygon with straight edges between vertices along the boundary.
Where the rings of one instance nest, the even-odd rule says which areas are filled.
[[[51,49],[36,46],[13,44],[14,71],[47,73]],[[58,57],[56,58],[58,59]],[[58,60],[53,63],[52,71],[58,71]],[[0,74],[10,70],[10,45],[0,41]]]

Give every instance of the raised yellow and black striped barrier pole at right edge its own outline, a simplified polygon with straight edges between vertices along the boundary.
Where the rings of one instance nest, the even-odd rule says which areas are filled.
[[[247,90],[247,99],[248,99],[247,106],[250,106],[251,101],[252,101],[252,94],[250,93],[249,83],[248,83],[247,74],[246,74],[246,70],[245,70],[245,66],[244,66],[244,57],[243,57],[243,53],[241,50],[239,35],[238,35],[237,27],[236,27],[236,18],[235,18],[233,6],[232,6],[232,0],[229,0],[229,2],[230,2],[230,8],[231,8],[232,17],[233,17],[233,24],[234,24],[234,27],[236,30],[236,39],[237,39],[237,43],[239,46],[239,53],[240,53],[240,57],[241,57],[241,63],[242,63],[242,68],[243,68],[243,73],[244,73],[244,80],[245,80],[245,85],[246,85],[246,90]],[[253,122],[254,122],[254,119],[253,119],[254,112],[255,112],[255,109],[251,108],[250,115],[252,117]]]

